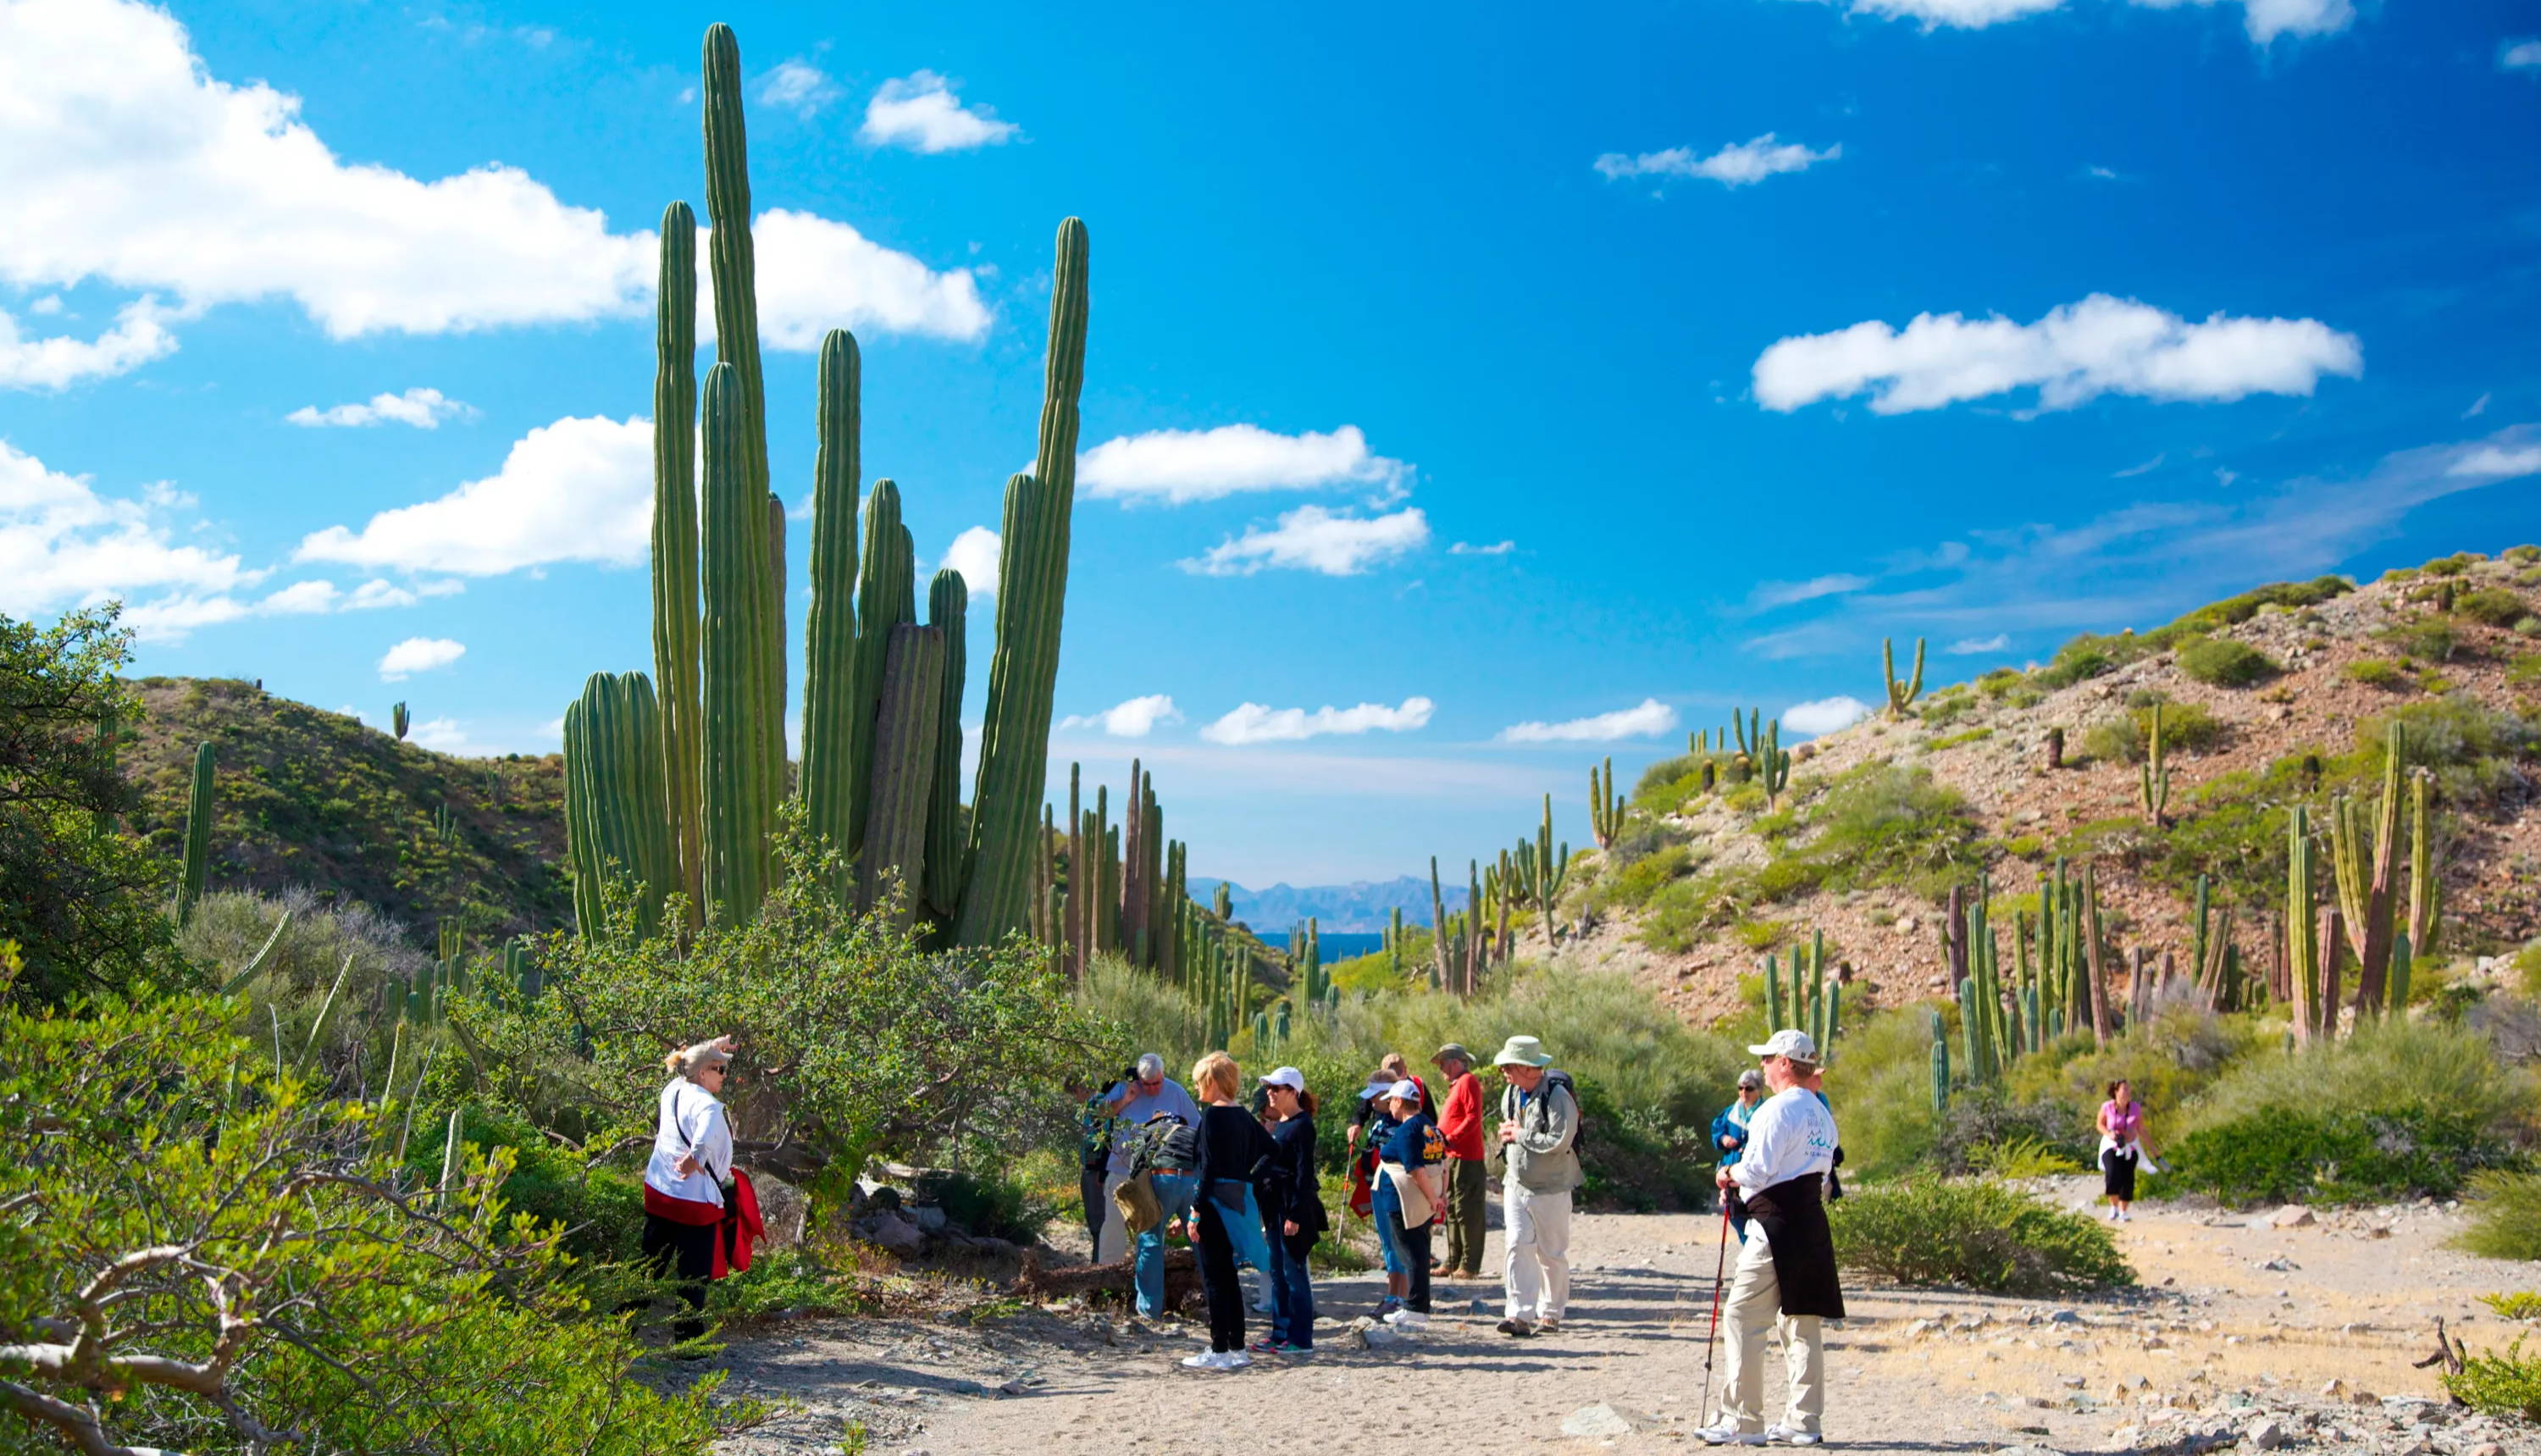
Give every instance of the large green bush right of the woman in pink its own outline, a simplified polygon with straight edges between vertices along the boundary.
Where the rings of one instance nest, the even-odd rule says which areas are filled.
[[[2536,1093],[2495,1047],[2429,1021],[2366,1024],[2234,1062],[2170,1146],[2183,1187],[2249,1202],[2452,1197],[2531,1146]]]

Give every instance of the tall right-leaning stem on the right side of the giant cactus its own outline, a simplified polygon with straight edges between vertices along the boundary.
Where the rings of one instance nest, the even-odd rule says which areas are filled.
[[[1067,536],[1077,501],[1077,394],[1085,389],[1085,224],[1060,224],[1049,285],[1049,356],[1042,379],[1042,440],[1032,475],[1006,483],[996,579],[996,656],[971,793],[971,884],[960,940],[986,945],[1021,920],[1027,849],[1042,803],[1049,704],[1060,676],[1060,617],[1067,605]]]

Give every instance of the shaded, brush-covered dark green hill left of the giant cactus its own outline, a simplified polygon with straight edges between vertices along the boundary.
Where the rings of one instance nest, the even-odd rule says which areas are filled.
[[[140,678],[122,762],[142,790],[132,826],[183,851],[196,745],[213,745],[211,889],[363,902],[429,945],[572,922],[564,760],[440,755],[353,717],[231,678]]]

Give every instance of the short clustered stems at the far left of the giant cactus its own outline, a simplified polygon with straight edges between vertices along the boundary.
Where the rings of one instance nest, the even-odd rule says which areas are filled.
[[[661,709],[643,673],[592,673],[564,709],[564,849],[584,935],[607,927],[602,884],[612,872],[635,879],[638,927],[650,933],[676,884],[676,856],[663,806]]]

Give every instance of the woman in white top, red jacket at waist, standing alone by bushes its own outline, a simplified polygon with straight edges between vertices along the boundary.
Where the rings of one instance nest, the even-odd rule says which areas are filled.
[[[661,1278],[678,1278],[689,1319],[671,1326],[678,1342],[706,1331],[706,1281],[750,1268],[750,1243],[762,1232],[750,1176],[732,1166],[732,1118],[724,1077],[732,1037],[681,1047],[661,1060],[671,1072],[643,1169],[643,1258]]]

